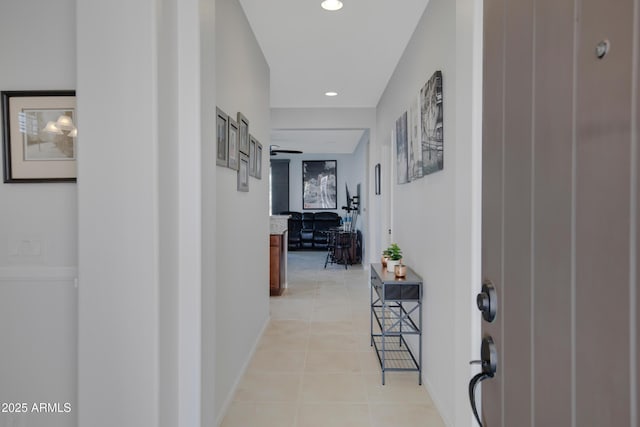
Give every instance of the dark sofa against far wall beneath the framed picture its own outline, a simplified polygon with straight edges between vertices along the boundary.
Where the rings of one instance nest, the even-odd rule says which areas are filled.
[[[335,212],[281,212],[290,215],[288,221],[289,249],[326,249],[329,229],[340,226],[340,216]]]

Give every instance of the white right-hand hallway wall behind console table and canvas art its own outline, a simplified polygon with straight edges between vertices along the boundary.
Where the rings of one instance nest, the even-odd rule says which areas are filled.
[[[377,132],[382,137],[371,150],[371,163],[386,163],[384,169],[392,172],[383,156],[395,120],[433,72],[441,70],[444,170],[404,185],[397,185],[391,173],[383,173],[387,186],[381,200],[383,206],[392,206],[391,239],[424,279],[424,379],[450,426],[471,425],[468,361],[474,354],[472,342],[480,335],[475,320],[479,316],[473,315],[471,303],[480,281],[480,205],[475,184],[480,180],[480,141],[472,133],[479,112],[473,92],[478,81],[472,80],[480,72],[472,60],[478,48],[474,44],[478,3],[429,2],[378,105]],[[381,229],[379,236],[385,231]]]

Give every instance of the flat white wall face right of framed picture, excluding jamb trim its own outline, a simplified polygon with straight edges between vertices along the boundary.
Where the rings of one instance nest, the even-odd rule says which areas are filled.
[[[156,426],[156,6],[78,0],[77,8],[78,420]]]

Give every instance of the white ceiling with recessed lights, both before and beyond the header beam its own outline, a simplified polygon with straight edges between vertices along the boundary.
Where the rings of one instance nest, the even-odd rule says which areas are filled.
[[[321,0],[240,0],[269,64],[272,108],[375,107],[429,0],[342,1],[328,12]],[[273,131],[272,144],[353,152],[362,136],[302,132]]]

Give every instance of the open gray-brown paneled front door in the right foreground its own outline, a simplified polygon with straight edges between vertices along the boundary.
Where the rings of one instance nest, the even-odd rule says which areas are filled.
[[[639,0],[484,0],[485,426],[638,425],[639,58]]]

